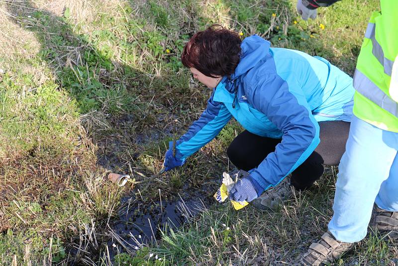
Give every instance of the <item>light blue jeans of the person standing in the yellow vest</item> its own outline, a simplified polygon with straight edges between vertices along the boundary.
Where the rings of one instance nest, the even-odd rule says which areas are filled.
[[[330,233],[339,241],[362,240],[373,204],[398,211],[398,133],[353,116],[337,174]]]

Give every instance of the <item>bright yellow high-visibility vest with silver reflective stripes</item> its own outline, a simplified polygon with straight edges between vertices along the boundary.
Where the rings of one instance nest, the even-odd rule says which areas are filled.
[[[369,20],[354,74],[356,117],[398,132],[398,0],[381,0]]]

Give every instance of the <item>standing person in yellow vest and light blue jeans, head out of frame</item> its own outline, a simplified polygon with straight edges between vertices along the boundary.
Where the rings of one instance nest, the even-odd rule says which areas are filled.
[[[297,9],[304,19],[314,18],[318,6],[334,2],[298,0]],[[372,230],[398,239],[398,1],[380,5],[371,15],[354,74],[354,116],[333,218],[328,232],[303,255],[303,265],[337,259],[365,238],[369,222]]]

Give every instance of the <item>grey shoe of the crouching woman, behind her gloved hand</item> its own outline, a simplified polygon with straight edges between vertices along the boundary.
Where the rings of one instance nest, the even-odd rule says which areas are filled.
[[[289,199],[293,189],[290,185],[290,177],[286,177],[281,183],[267,189],[260,197],[250,202],[250,204],[260,210],[275,210],[284,201]]]

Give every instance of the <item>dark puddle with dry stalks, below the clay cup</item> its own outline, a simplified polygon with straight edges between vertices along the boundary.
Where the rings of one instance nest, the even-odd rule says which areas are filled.
[[[162,238],[162,231],[168,233],[168,229],[180,227],[200,212],[203,205],[209,207],[214,203],[211,194],[200,189],[179,194],[173,201],[162,200],[162,204],[160,201],[143,203],[135,193],[127,194],[121,200],[117,218],[109,221],[113,234],[119,239],[112,237],[107,243],[111,258],[125,252],[120,239],[130,250],[154,243]]]

